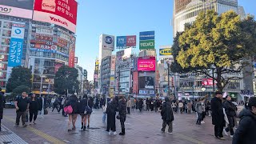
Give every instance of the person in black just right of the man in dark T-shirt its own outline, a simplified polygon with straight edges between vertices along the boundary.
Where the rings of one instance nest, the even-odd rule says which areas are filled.
[[[32,124],[32,119],[33,119],[33,124],[35,124],[35,120],[38,118],[38,110],[39,110],[39,101],[36,98],[35,94],[29,94],[30,96],[30,125]]]

